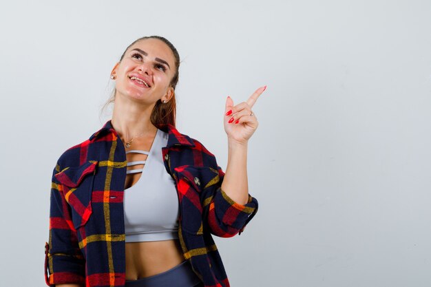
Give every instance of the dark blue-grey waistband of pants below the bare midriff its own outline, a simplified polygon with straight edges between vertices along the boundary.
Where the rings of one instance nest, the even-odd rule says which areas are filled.
[[[185,260],[165,272],[138,280],[126,280],[125,287],[193,287],[203,286],[190,262]]]

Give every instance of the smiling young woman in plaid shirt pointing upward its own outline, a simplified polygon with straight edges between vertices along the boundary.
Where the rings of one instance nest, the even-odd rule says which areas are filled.
[[[45,279],[50,286],[229,286],[211,233],[241,233],[257,212],[248,192],[251,111],[227,98],[226,173],[175,128],[180,57],[160,36],[134,41],[114,65],[112,119],[67,149],[52,173]],[[49,274],[48,274],[49,271]]]

